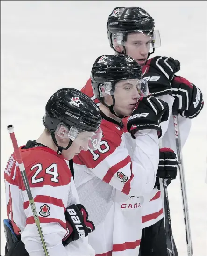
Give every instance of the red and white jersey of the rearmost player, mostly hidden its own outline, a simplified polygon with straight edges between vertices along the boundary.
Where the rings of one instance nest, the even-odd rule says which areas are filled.
[[[143,67],[143,72],[145,71],[145,66]],[[91,79],[89,79],[86,85],[81,90],[83,93],[91,97],[91,99],[99,105],[98,99],[95,98],[91,86]],[[161,123],[162,128],[162,146],[169,147],[177,153],[175,146],[175,135],[174,135],[174,124],[172,117],[172,105],[174,102],[174,97],[171,95],[163,95],[159,97],[164,100],[169,105],[169,118],[167,121]],[[184,146],[186,139],[190,132],[191,119],[184,118],[178,115],[178,120],[180,124],[180,135],[181,135],[181,146]],[[126,124],[127,118],[123,119],[123,122]],[[132,142],[133,143],[133,142]],[[146,202],[146,200],[145,200]],[[149,227],[155,224],[157,221],[163,218],[163,208],[160,190],[154,189],[150,193],[150,200],[148,203],[145,203],[142,207],[142,228]]]

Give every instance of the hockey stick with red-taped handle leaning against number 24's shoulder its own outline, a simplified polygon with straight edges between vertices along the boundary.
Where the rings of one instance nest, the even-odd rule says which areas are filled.
[[[48,249],[47,249],[47,246],[46,246],[46,243],[45,243],[45,240],[44,240],[44,236],[43,236],[43,231],[42,231],[42,228],[40,226],[40,220],[39,220],[39,217],[38,217],[38,214],[37,214],[37,211],[36,211],[35,202],[34,202],[34,199],[32,197],[32,193],[31,193],[31,190],[30,190],[30,187],[29,187],[29,182],[28,182],[28,179],[27,179],[27,176],[26,176],[24,163],[22,161],[21,153],[20,153],[20,150],[19,150],[19,147],[18,147],[18,144],[17,144],[17,140],[16,140],[16,137],[15,137],[14,127],[13,127],[13,125],[8,125],[7,129],[8,129],[8,132],[10,134],[10,138],[12,140],[14,152],[16,154],[16,159],[19,163],[21,177],[22,177],[22,180],[24,182],[25,189],[27,191],[27,195],[28,195],[28,198],[29,198],[29,204],[31,206],[33,217],[34,217],[34,220],[35,220],[35,223],[36,223],[36,226],[37,226],[37,229],[38,229],[38,233],[39,233],[39,236],[40,236],[40,240],[42,242],[44,254],[45,254],[45,256],[49,256]]]

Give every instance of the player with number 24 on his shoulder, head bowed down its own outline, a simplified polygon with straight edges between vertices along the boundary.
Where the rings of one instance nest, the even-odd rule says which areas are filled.
[[[100,121],[100,111],[88,96],[74,88],[60,89],[46,104],[43,133],[20,147],[49,255],[94,255],[88,238],[79,238],[92,232],[94,225],[79,204],[66,159],[99,146]],[[18,165],[13,153],[4,172],[5,255],[44,255]]]

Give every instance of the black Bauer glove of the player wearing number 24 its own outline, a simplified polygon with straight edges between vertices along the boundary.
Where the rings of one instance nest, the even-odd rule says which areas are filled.
[[[88,220],[86,208],[81,204],[67,207],[65,219],[68,233],[62,240],[64,246],[80,237],[88,236],[88,233],[95,230],[93,222]]]

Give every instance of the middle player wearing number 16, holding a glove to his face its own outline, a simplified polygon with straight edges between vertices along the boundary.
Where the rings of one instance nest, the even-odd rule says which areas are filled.
[[[168,119],[168,106],[147,96],[141,73],[127,55],[100,56],[91,72],[93,93],[101,102],[103,138],[97,151],[74,158],[74,176],[80,201],[96,227],[89,235],[96,255],[139,254],[141,204],[149,200],[156,174],[168,165],[166,160],[165,168],[157,171],[160,121]],[[127,126],[122,122],[126,116]],[[175,165],[175,178],[176,155],[170,149],[162,153]]]

